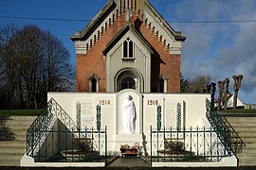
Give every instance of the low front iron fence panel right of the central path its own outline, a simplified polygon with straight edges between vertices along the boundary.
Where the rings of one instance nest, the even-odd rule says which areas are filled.
[[[228,157],[226,146],[213,128],[162,128],[151,127],[152,162],[220,161]]]

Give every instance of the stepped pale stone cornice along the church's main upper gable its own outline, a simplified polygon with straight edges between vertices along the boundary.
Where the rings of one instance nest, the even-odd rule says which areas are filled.
[[[116,22],[119,23],[118,25],[125,23],[120,17],[125,15],[127,9],[131,13],[130,17],[139,18],[144,25],[148,26],[170,53],[181,51],[181,42],[186,38],[181,32],[175,32],[147,0],[109,0],[88,26],[70,37],[76,42],[77,54],[87,54],[107,29]]]

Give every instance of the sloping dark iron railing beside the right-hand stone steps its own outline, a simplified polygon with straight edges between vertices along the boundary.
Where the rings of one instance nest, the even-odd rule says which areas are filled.
[[[206,116],[210,125],[214,128],[218,137],[228,149],[229,155],[242,152],[242,148],[246,146],[246,144],[239,137],[234,128],[231,127],[228,120],[220,116],[218,112],[214,110],[208,99],[206,99],[206,109]]]

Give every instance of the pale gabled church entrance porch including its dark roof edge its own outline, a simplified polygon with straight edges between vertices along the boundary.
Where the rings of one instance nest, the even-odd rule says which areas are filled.
[[[119,92],[121,86],[125,86],[124,81],[129,79],[137,81],[134,86],[137,91],[150,92],[150,65],[154,52],[136,29],[128,24],[124,26],[103,53],[106,56],[107,92]]]

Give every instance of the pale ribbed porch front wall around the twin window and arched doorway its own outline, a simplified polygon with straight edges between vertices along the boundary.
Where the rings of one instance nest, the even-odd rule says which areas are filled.
[[[123,42],[130,38],[134,43],[134,58],[123,59]],[[137,36],[129,30],[115,46],[106,54],[106,90],[116,92],[116,76],[123,69],[134,69],[141,75],[138,78],[137,91],[149,93],[151,91],[151,52],[138,40]],[[139,81],[140,80],[140,81]]]

